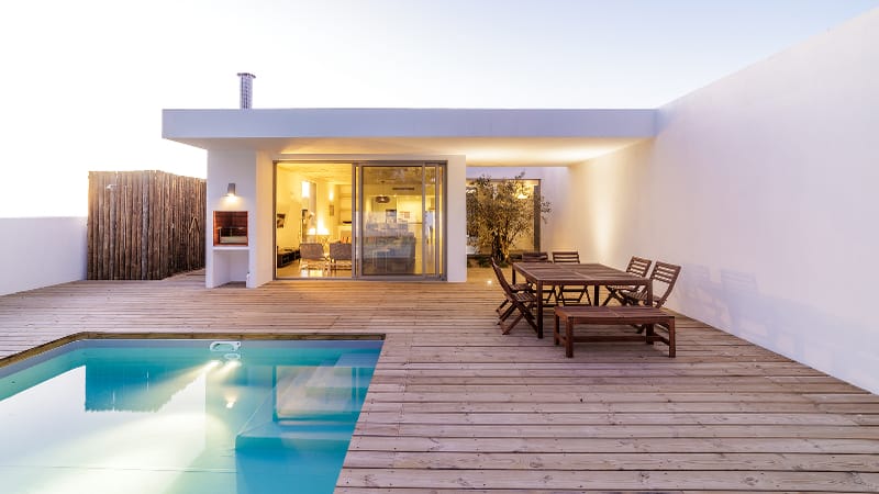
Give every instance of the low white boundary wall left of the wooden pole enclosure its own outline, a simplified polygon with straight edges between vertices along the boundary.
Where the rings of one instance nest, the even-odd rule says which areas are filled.
[[[86,279],[86,217],[0,218],[0,295]]]

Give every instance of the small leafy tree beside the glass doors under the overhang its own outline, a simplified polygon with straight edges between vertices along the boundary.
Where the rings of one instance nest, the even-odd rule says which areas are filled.
[[[549,202],[535,197],[522,177],[492,180],[483,175],[467,188],[467,235],[476,238],[478,251],[498,262],[509,261],[510,247],[533,231],[535,214],[545,222],[552,212]]]

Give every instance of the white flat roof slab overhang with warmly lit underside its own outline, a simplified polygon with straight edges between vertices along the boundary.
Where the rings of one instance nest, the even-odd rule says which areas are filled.
[[[656,110],[164,110],[162,136],[272,155],[464,155],[470,166],[567,166],[656,135]]]

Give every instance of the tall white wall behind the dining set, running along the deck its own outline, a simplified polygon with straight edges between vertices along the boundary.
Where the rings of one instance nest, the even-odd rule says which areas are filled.
[[[669,307],[879,392],[878,88],[875,10],[672,102],[571,169],[578,247],[680,263]]]

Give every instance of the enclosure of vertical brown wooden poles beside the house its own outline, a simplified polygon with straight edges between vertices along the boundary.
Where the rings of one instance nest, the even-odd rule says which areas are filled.
[[[207,183],[164,171],[90,171],[89,280],[160,280],[204,267]]]

